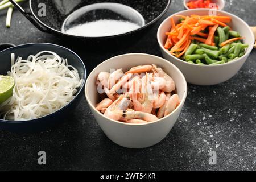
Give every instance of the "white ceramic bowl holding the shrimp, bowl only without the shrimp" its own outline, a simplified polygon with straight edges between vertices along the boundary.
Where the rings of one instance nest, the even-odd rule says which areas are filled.
[[[100,101],[96,86],[97,76],[100,72],[110,72],[110,69],[120,68],[125,72],[131,67],[144,64],[156,64],[174,79],[177,94],[181,100],[175,111],[158,121],[134,125],[109,119],[95,109],[94,106]],[[86,81],[85,97],[98,125],[110,140],[127,148],[145,148],[159,143],[171,131],[187,97],[187,82],[180,70],[169,61],[153,55],[132,53],[113,57],[98,65]]]

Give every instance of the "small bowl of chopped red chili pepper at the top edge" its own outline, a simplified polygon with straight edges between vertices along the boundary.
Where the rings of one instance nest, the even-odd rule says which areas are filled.
[[[185,9],[210,8],[223,10],[225,6],[224,0],[184,0]]]

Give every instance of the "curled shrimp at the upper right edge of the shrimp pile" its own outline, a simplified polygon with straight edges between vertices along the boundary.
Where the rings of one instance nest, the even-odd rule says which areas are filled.
[[[164,86],[164,88],[160,90],[162,90],[163,92],[172,92],[175,90],[176,86],[174,80],[172,80],[172,78],[169,75],[167,75],[162,68],[159,68],[153,64],[152,69],[156,76],[164,78],[164,80],[166,80],[166,85]]]

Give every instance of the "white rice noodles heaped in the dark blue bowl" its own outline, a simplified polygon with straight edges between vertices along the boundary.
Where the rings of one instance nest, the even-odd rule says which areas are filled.
[[[55,52],[42,51],[27,60],[18,57],[15,63],[14,57],[8,75],[15,86],[10,100],[0,105],[3,119],[24,121],[51,114],[71,102],[82,84],[77,69]]]

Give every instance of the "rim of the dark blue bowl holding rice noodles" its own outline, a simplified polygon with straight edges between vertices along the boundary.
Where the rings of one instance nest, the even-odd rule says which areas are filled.
[[[14,46],[14,47],[7,48],[7,49],[1,51],[0,53],[5,52],[5,51],[7,51],[7,50],[9,50],[9,49],[17,48],[17,47],[18,47],[18,48],[21,48],[21,47],[33,46],[33,45],[37,45],[37,44],[39,44],[39,45],[44,45],[44,46],[53,46],[53,47],[63,48],[63,49],[65,49],[67,52],[70,52],[70,53],[72,53],[73,55],[75,55],[75,56],[79,59],[79,61],[82,63],[82,68],[84,69],[84,73],[85,73],[85,74],[84,74],[84,78],[82,78],[82,79],[84,79],[84,81],[82,82],[82,84],[81,84],[81,86],[80,86],[80,89],[77,90],[76,96],[75,96],[67,105],[61,107],[59,110],[56,110],[56,111],[54,111],[54,112],[51,113],[51,114],[44,115],[43,117],[35,118],[35,119],[28,119],[28,120],[26,120],[26,121],[9,121],[9,120],[5,120],[5,119],[0,119],[0,122],[1,122],[1,123],[27,123],[27,122],[38,122],[39,119],[46,118],[46,117],[49,117],[49,116],[51,116],[51,115],[53,115],[53,114],[59,113],[60,111],[64,110],[66,107],[68,107],[69,105],[71,105],[71,104],[76,100],[76,98],[80,95],[80,93],[82,92],[82,90],[84,89],[84,85],[85,85],[85,82],[86,82],[86,74],[87,74],[86,68],[85,68],[85,64],[84,64],[84,62],[82,61],[81,57],[79,57],[79,55],[77,55],[75,52],[71,51],[71,49],[68,49],[68,48],[63,47],[63,46],[59,46],[59,45],[57,45],[57,44],[51,44],[51,43],[28,43],[28,44],[20,44],[20,45],[18,45],[18,46]]]

